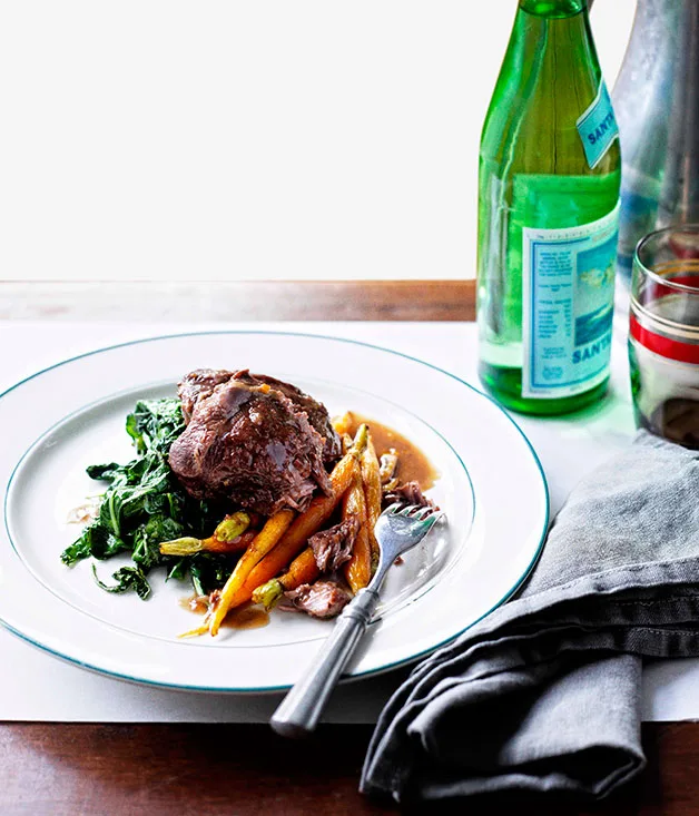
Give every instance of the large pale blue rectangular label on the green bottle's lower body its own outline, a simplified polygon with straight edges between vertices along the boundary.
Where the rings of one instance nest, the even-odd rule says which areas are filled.
[[[574,396],[609,373],[619,205],[565,229],[522,230],[522,396]]]

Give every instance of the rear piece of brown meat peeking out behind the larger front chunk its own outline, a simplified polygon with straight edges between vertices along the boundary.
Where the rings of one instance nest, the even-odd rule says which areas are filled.
[[[284,396],[288,397],[299,411],[304,411],[308,416],[308,422],[323,438],[323,461],[325,464],[334,464],[342,454],[342,443],[339,436],[335,433],[335,429],[331,424],[325,405],[305,394],[291,383],[275,380],[275,377],[266,374],[250,374],[247,368],[237,371],[226,371],[223,368],[197,368],[190,372],[179,383],[178,393],[183,402],[183,414],[185,421],[189,422],[194,405],[199,399],[210,396],[214,389],[229,380],[238,380],[246,385],[268,385],[270,389],[280,391]]]

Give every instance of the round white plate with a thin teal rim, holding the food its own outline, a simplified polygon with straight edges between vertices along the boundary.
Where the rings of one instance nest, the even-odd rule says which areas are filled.
[[[199,619],[178,602],[190,588],[152,577],[152,597],[100,590],[87,561],[60,553],[67,523],[96,483],[86,465],[128,461],[124,431],[140,397],[175,394],[197,367],[247,367],[287,380],[331,414],[355,410],[394,427],[431,459],[431,495],[447,523],[395,567],[381,618],[350,667],[361,677],[429,653],[506,600],[540,552],[549,505],[529,442],[489,397],[419,360],[316,335],[175,335],[85,354],[39,372],[0,399],[0,620],[47,651],[138,682],[207,691],[291,686],[331,623],[272,616],[264,628],[181,640]],[[47,430],[48,429],[48,430]],[[108,580],[119,559],[98,563]]]

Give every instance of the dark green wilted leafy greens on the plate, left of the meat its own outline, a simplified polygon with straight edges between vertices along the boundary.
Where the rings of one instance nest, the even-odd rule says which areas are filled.
[[[185,430],[179,400],[139,401],[127,416],[126,430],[138,455],[127,464],[87,469],[91,479],[108,486],[97,518],[62,552],[61,561],[70,567],[89,557],[104,561],[130,552],[134,566],[114,572],[112,584],[100,581],[96,572],[95,578],[108,592],[134,590],[142,599],[150,594],[148,573],[156,567],[165,567],[168,579],[189,576],[197,594],[221,587],[230,572],[226,556],[201,552],[176,558],[159,550],[163,541],[210,534],[225,514],[221,508],[186,493],[168,464],[170,445]]]

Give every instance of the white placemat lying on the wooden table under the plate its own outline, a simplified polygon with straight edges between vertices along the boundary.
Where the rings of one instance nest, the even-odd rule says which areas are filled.
[[[207,324],[206,328],[233,325]],[[346,336],[412,354],[478,383],[475,327],[456,323],[236,324]],[[197,328],[193,324],[0,323],[0,392],[65,357],[137,337]],[[623,345],[613,352],[611,399],[574,419],[515,417],[541,459],[555,513],[575,482],[633,434]],[[0,719],[60,721],[266,720],[279,697],[218,696],[131,685],[76,668],[0,630]],[[374,721],[405,670],[341,687],[326,714],[334,722]],[[699,660],[663,661],[644,672],[647,720],[699,717]]]

